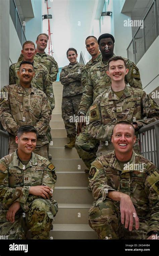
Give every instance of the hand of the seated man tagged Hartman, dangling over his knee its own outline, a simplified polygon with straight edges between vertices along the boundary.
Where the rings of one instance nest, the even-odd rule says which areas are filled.
[[[128,228],[129,231],[133,229],[133,223],[135,219],[135,229],[139,229],[139,218],[136,213],[135,207],[131,201],[131,198],[122,193],[120,197],[120,213],[121,213],[121,223],[124,224],[125,228]]]

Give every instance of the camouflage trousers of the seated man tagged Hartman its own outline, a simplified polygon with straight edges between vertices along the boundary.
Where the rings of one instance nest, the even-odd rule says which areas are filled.
[[[89,225],[97,232],[99,239],[147,239],[148,221],[139,220],[139,229],[129,231],[121,224],[119,207],[111,199],[99,198],[89,211]]]

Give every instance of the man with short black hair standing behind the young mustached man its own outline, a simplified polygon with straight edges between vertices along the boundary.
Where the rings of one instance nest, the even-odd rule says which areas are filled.
[[[111,79],[106,71],[108,70],[109,59],[115,56],[113,52],[115,39],[111,34],[102,34],[98,38],[98,44],[102,58],[88,72],[87,83],[78,109],[78,115],[80,116],[88,116],[90,106],[95,98],[111,86]],[[125,75],[125,83],[129,83],[131,87],[142,89],[139,69],[130,60],[126,58],[124,60],[128,69],[128,73]],[[79,122],[75,148],[88,169],[90,169],[91,162],[96,158],[98,146],[99,141],[91,138],[88,133],[88,125],[85,122]]]

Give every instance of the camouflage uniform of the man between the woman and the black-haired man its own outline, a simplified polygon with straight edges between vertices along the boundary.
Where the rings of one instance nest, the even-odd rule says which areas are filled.
[[[87,82],[87,75],[88,75],[88,72],[90,71],[90,68],[95,64],[97,64],[97,62],[99,62],[101,59],[102,59],[102,54],[100,52],[96,59],[94,60],[91,59],[89,62],[87,62],[87,64],[81,70],[81,83],[84,88]]]

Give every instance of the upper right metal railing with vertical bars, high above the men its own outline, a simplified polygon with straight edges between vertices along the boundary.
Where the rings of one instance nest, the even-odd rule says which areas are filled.
[[[152,11],[152,13],[154,11],[154,17],[150,21],[150,22],[153,22],[153,19],[154,19],[154,26],[155,26],[155,30],[154,30],[155,33],[154,33],[154,35],[155,36],[153,35],[153,39],[152,39],[153,41],[157,38],[157,36],[159,34],[159,31],[158,31],[158,29],[159,29],[158,28],[158,15],[159,15],[159,12],[158,12],[158,8],[157,8],[158,5],[159,5],[159,0],[154,0],[152,2],[152,4],[151,4],[149,10],[147,11],[144,19],[143,19],[143,23],[145,24],[145,22],[147,22],[146,18],[148,16],[148,14],[151,11]],[[149,17],[149,19],[150,19],[150,17]],[[149,22],[149,19],[148,19],[148,22]],[[139,62],[139,60],[141,60],[141,58],[143,57],[145,52],[148,50],[148,48],[152,44],[152,41],[150,43],[149,41],[146,40],[146,35],[145,35],[145,29],[146,28],[149,28],[149,27],[148,26],[147,27],[143,27],[142,29],[141,29],[141,27],[139,27],[137,29],[135,35],[133,36],[132,40],[130,41],[130,43],[129,43],[127,49],[126,49],[127,50],[127,58],[129,60],[135,62],[135,64],[137,64]],[[152,33],[151,29],[150,29],[150,31],[148,33],[149,33],[149,36],[151,36],[151,33]],[[139,45],[136,45],[136,44],[139,44]],[[146,46],[146,44],[147,44],[147,46]],[[139,46],[139,47],[137,47],[137,46]]]

